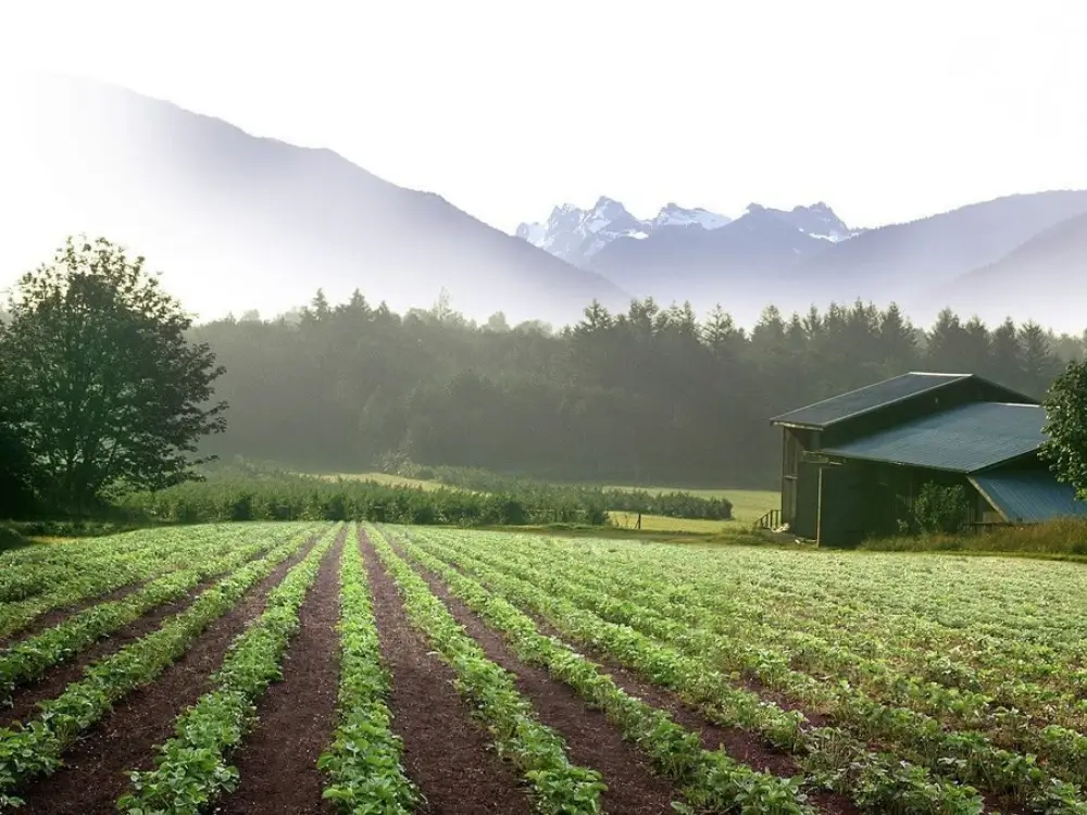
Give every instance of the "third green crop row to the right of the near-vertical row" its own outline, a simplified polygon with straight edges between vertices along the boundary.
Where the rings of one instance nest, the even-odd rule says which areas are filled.
[[[848,794],[863,811],[896,815],[977,815],[984,804],[976,790],[933,778],[898,756],[875,753],[841,728],[812,728],[796,711],[783,711],[758,694],[734,687],[732,678],[704,660],[690,657],[640,634],[610,623],[566,599],[505,574],[473,553],[425,542],[429,553],[465,569],[516,605],[542,616],[563,636],[596,649],[655,685],[674,691],[708,719],[759,734],[774,748],[794,752],[809,782]]]

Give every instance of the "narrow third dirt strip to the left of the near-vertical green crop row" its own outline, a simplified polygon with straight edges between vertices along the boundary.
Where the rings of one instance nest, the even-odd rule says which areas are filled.
[[[261,554],[250,559],[257,560]],[[197,597],[207,588],[222,579],[223,575],[215,575],[202,580],[185,597],[170,603],[163,603],[151,609],[143,616],[134,619],[128,625],[120,628],[109,637],[100,639],[90,648],[80,651],[71,662],[60,663],[47,670],[39,679],[23,685],[12,692],[12,706],[0,714],[0,720],[11,723],[22,722],[36,712],[38,702],[51,699],[61,693],[64,688],[83,677],[84,669],[99,660],[103,660],[116,653],[125,645],[135,642],[141,637],[157,629],[162,623],[175,614],[185,611]],[[132,593],[132,592],[126,592]]]

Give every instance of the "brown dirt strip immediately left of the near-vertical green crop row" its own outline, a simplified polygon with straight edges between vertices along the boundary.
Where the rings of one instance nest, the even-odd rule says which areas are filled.
[[[334,813],[322,801],[326,778],[317,769],[336,728],[339,687],[339,561],[345,526],[317,572],[299,612],[301,627],[284,657],[283,680],[257,705],[260,722],[234,763],[238,789],[215,812],[220,815],[318,815]]]

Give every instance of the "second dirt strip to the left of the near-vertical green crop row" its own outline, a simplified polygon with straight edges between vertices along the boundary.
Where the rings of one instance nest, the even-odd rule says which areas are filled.
[[[27,813],[116,815],[116,800],[130,769],[150,769],[154,748],[173,735],[174,720],[211,688],[210,677],[234,639],[264,609],[268,592],[313,548],[318,536],[251,589],[234,609],[215,620],[177,662],[153,682],[137,688],[92,727],[65,756],[53,776],[30,783],[18,794]]]

